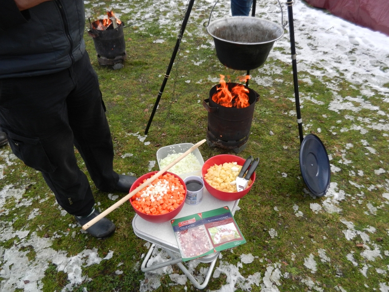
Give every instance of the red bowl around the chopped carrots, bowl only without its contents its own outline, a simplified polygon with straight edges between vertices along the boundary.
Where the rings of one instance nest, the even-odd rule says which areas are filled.
[[[152,171],[152,172],[149,172],[149,173],[146,173],[144,175],[142,175],[139,179],[137,179],[132,185],[131,185],[131,188],[130,188],[130,193],[135,190],[138,186],[140,186],[142,183],[143,183],[143,180],[147,180],[149,178],[151,178],[153,175],[155,175],[158,171]],[[177,216],[177,214],[179,213],[179,211],[181,211],[182,207],[184,206],[185,204],[185,199],[186,199],[186,185],[184,183],[184,181],[177,175],[177,174],[174,174],[172,172],[164,172],[162,175],[164,175],[165,173],[169,173],[171,175],[174,175],[176,178],[179,179],[179,182],[184,186],[184,189],[185,189],[185,197],[184,197],[184,200],[182,200],[182,202],[179,204],[179,206],[174,209],[173,211],[170,211],[169,213],[166,213],[166,214],[160,214],[160,215],[150,215],[150,214],[145,214],[145,213],[142,213],[141,211],[139,211],[137,208],[134,207],[134,205],[132,204],[132,201],[133,201],[133,198],[135,200],[135,197],[131,197],[130,198],[130,203],[131,203],[131,206],[132,208],[134,209],[134,211],[143,219],[145,219],[146,221],[149,221],[149,222],[153,222],[153,223],[162,223],[162,222],[166,222],[166,221],[170,221],[171,219],[175,218]]]

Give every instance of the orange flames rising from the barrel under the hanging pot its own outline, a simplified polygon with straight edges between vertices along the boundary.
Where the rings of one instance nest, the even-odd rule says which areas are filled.
[[[224,77],[224,75],[220,74],[220,84],[216,87],[212,100],[226,108],[242,109],[248,107],[250,105],[248,102],[248,89],[242,84],[237,84],[230,91],[228,84],[224,81]]]

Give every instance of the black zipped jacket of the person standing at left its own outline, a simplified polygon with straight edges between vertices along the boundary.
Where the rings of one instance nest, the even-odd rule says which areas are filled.
[[[62,71],[85,52],[83,0],[51,0],[19,11],[0,0],[0,78]]]

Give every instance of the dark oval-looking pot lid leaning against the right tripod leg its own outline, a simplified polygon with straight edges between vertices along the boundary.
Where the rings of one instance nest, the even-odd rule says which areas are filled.
[[[311,193],[317,197],[324,196],[330,185],[330,161],[323,143],[314,134],[308,134],[302,140],[300,169]]]

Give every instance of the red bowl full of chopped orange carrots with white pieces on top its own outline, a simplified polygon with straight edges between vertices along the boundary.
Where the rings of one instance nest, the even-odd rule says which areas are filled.
[[[158,171],[142,175],[131,186],[130,192],[146,182]],[[130,198],[135,212],[146,221],[161,223],[177,216],[185,203],[186,185],[172,172],[164,172],[152,183]]]

